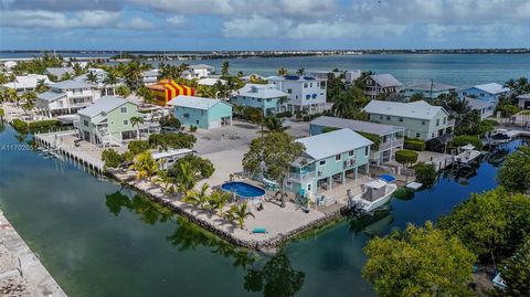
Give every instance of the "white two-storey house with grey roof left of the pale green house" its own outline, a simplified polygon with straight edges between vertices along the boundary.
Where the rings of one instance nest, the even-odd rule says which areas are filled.
[[[50,89],[36,95],[38,113],[47,116],[62,116],[77,113],[99,98],[99,91],[81,81],[63,81],[50,84]]]

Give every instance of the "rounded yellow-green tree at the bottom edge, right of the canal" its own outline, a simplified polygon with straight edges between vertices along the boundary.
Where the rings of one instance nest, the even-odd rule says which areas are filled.
[[[381,297],[475,296],[468,286],[475,255],[431,222],[375,237],[364,252],[362,275]]]

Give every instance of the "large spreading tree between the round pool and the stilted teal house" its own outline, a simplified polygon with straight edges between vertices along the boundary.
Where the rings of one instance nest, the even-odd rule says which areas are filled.
[[[271,132],[253,139],[243,157],[243,168],[254,176],[264,174],[282,184],[282,206],[285,206],[284,182],[290,165],[304,153],[305,147],[286,132]]]

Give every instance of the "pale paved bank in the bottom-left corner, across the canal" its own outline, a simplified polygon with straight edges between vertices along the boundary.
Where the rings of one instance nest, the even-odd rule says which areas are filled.
[[[0,296],[66,297],[1,211]]]

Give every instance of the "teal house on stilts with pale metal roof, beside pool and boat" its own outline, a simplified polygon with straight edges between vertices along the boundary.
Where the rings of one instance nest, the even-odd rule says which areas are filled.
[[[296,195],[319,203],[333,188],[343,188],[356,181],[358,174],[368,174],[373,142],[349,128],[296,141],[306,147],[304,155],[290,165],[286,182],[286,188]],[[346,194],[346,190],[340,194]]]

